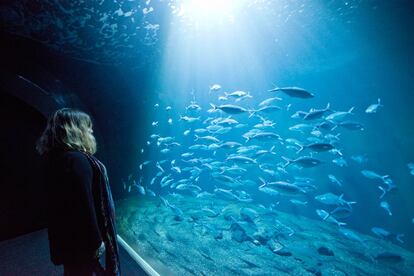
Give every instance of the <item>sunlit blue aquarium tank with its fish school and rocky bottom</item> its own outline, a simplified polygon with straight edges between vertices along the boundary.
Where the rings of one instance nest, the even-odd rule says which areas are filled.
[[[408,2],[163,3],[130,245],[176,275],[414,273]]]

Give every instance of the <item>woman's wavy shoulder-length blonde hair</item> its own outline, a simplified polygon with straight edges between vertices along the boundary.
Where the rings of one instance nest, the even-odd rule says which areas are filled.
[[[91,129],[92,120],[88,114],[71,108],[59,109],[49,117],[36,149],[40,154],[52,149],[80,150],[94,154],[96,140]]]

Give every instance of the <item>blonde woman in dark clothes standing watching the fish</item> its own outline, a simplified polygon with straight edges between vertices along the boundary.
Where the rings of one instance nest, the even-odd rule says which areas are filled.
[[[115,210],[105,166],[93,154],[90,117],[63,108],[37,143],[45,156],[51,260],[64,275],[120,275]],[[99,262],[105,251],[106,270]]]

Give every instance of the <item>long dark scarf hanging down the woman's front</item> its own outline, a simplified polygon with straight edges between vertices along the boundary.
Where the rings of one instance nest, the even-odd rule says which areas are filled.
[[[115,227],[115,204],[112,198],[106,168],[96,157],[84,152],[93,169],[93,197],[96,217],[105,244],[107,275],[120,275],[119,250]]]

